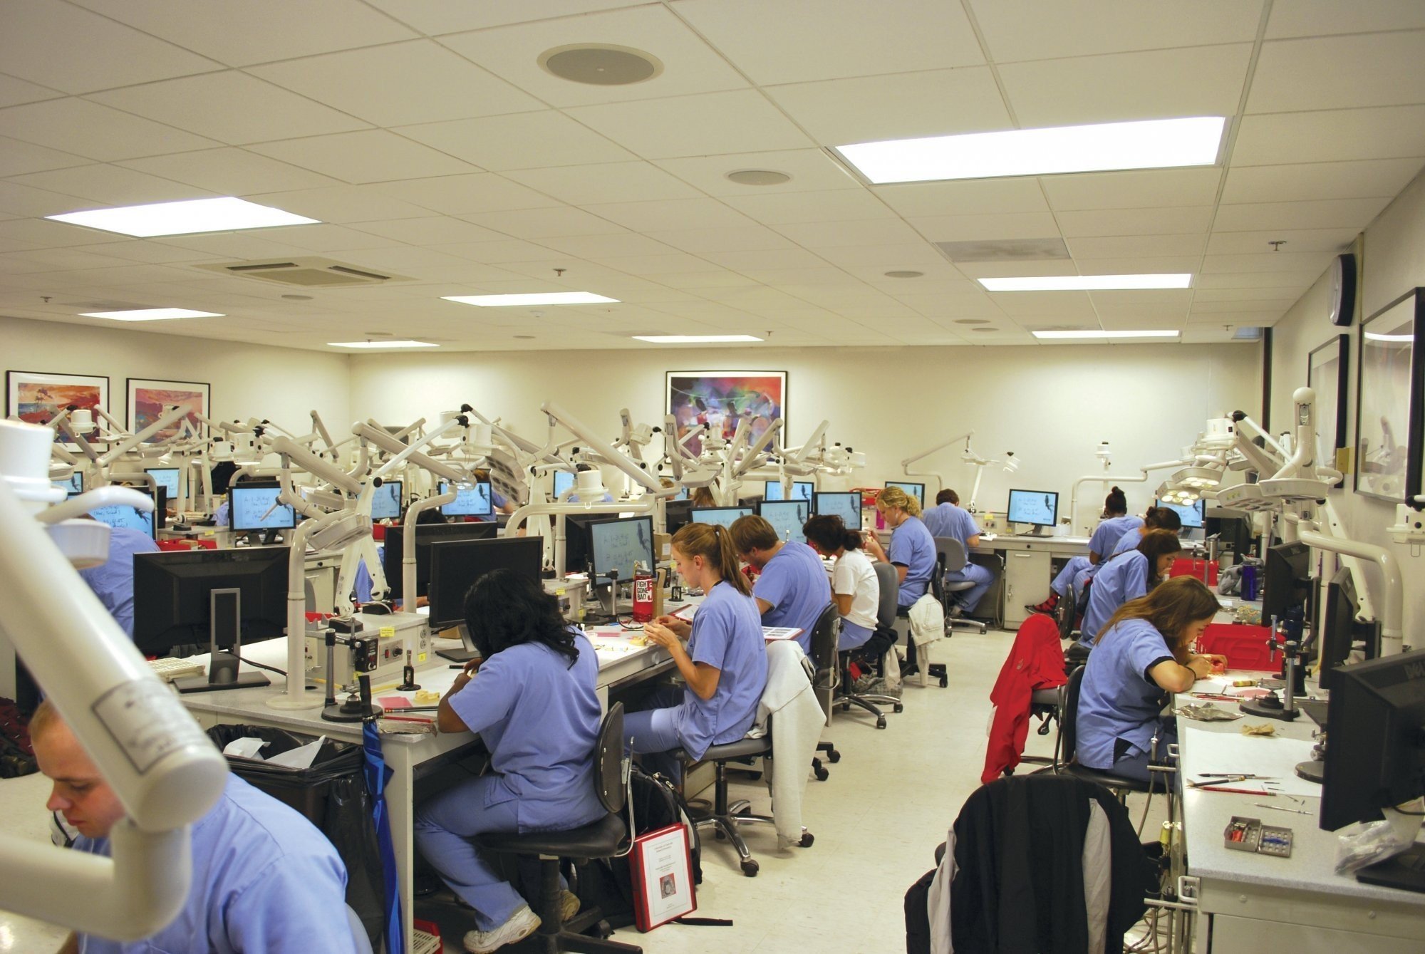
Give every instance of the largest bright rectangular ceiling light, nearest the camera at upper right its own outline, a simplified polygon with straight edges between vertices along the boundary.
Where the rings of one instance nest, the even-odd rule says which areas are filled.
[[[1227,120],[1220,115],[1066,125],[838,145],[872,185],[983,179],[1103,169],[1211,165]]]

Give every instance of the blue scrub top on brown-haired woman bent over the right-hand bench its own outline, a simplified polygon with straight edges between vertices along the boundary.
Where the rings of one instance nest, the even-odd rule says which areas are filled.
[[[1173,654],[1167,641],[1147,619],[1124,619],[1103,634],[1079,688],[1082,765],[1112,769],[1117,739],[1131,746],[1126,756],[1149,753],[1159,713],[1167,703],[1167,693],[1149,678],[1149,669],[1168,659]]]

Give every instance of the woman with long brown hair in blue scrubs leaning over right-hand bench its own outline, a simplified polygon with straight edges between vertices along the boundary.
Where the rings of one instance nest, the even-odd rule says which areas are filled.
[[[1147,782],[1150,762],[1167,763],[1177,742],[1176,722],[1161,715],[1168,693],[1227,665],[1227,656],[1191,651],[1217,609],[1201,580],[1174,577],[1113,614],[1079,689],[1080,765]]]

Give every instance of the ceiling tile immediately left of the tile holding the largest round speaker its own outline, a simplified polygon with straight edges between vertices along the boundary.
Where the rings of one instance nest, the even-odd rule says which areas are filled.
[[[430,40],[329,53],[249,73],[380,127],[437,122],[543,104]],[[400,77],[400,83],[392,83]]]

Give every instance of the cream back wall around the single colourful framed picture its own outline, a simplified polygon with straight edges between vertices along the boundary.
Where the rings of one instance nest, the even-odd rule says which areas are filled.
[[[1112,443],[1114,470],[1129,471],[1178,457],[1210,416],[1257,414],[1260,360],[1251,345],[362,355],[352,357],[352,412],[395,424],[469,403],[543,439],[539,406],[553,400],[613,439],[621,407],[636,421],[661,420],[667,370],[785,370],[787,443],[831,420],[832,440],[866,453],[856,486],[903,478],[898,461],[975,429],[980,454],[1013,450],[1023,461],[1017,474],[985,473],[982,510],[1002,511],[1013,486],[1060,491],[1063,514],[1073,480],[1103,473],[1099,441]],[[973,468],[959,447],[912,468],[938,470],[969,498]],[[1161,477],[1123,484],[1133,510]],[[1086,498],[1083,517],[1103,491],[1089,486]]]

